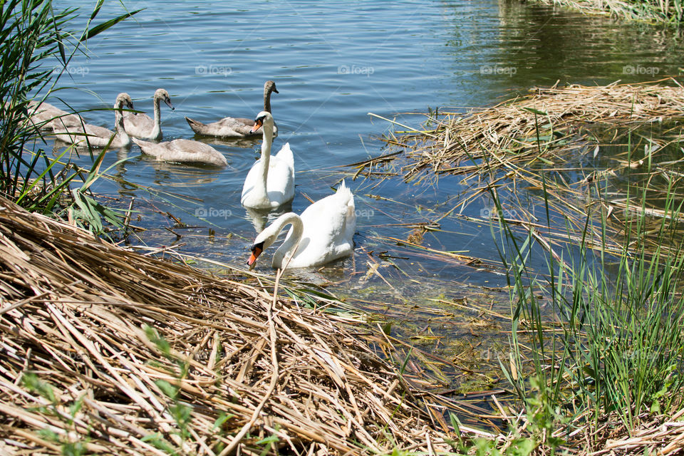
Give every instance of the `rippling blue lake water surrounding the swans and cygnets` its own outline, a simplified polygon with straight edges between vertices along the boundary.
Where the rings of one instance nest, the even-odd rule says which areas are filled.
[[[78,24],[92,3],[56,2],[81,6]],[[73,58],[68,76],[58,84],[68,88],[57,95],[86,110],[109,107],[125,91],[137,109],[151,113],[152,93],[165,88],[176,110],[162,104],[162,130],[164,139],[172,140],[194,138],[184,115],[204,122],[226,115],[254,118],[261,110],[264,81],[276,81],[279,93],[272,106],[279,136],[274,148],[289,142],[294,150],[292,209],[301,212],[309,205],[305,195],[320,199],[331,194],[343,172],[358,209],[354,257],[322,271],[294,274],[329,282],[328,288],[340,294],[358,290],[365,299],[390,304],[437,295],[450,299],[461,296],[465,284],[505,281],[500,274],[390,239],[407,239],[414,230],[410,224],[440,217],[456,204],[462,188],[450,177],[441,177],[437,185],[405,184],[399,178],[352,180],[341,165],[388,152],[378,137],[392,126],[369,112],[418,127],[428,107],[491,105],[556,81],[651,81],[677,74],[684,61],[681,37],[667,29],[517,1],[128,1],[126,6],[145,10],[88,41],[90,57]],[[108,2],[98,21],[123,12],[118,2]],[[113,128],[111,112],[84,116]],[[155,162],[135,145],[123,154],[108,154],[105,165],[130,157],[113,175],[180,196],[153,198],[128,184],[100,181],[94,190],[122,197],[123,207],[130,197],[137,198],[134,207],[142,212],[133,223],[149,230],[131,238],[131,244],[182,244],[177,247],[181,252],[245,266],[256,232],[239,199],[259,141],[214,147],[229,167]],[[487,207],[483,199],[465,213],[479,217]],[[192,228],[177,227],[166,212]],[[196,213],[207,217],[197,219]],[[440,232],[425,234],[423,247],[498,261],[487,224],[454,214],[440,227]],[[380,257],[381,252],[389,258]],[[260,259],[258,271],[272,273],[271,253]],[[405,318],[412,317],[407,313]]]

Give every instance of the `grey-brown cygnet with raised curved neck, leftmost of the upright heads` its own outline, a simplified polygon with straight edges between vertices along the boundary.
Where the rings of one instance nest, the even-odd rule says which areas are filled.
[[[55,136],[58,140],[71,142],[76,145],[90,144],[92,147],[105,147],[107,145],[110,147],[128,147],[130,145],[130,136],[126,134],[123,127],[123,115],[121,114],[121,109],[124,106],[133,109],[133,101],[128,93],[119,93],[114,103],[114,125],[116,132],[98,125],[79,123],[73,127],[55,125]]]

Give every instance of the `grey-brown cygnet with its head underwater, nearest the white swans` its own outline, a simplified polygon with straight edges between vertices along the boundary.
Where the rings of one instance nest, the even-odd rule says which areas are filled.
[[[204,163],[206,165],[226,166],[228,160],[221,152],[204,142],[193,140],[172,140],[148,142],[133,138],[140,150],[164,162]]]

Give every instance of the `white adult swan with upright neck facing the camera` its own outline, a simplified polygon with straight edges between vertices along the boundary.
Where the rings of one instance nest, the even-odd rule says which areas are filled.
[[[261,142],[261,158],[247,173],[242,186],[240,202],[244,207],[266,209],[278,207],[294,198],[294,157],[287,142],[271,157],[273,142],[273,116],[261,111],[254,120],[252,130],[264,130]]]

